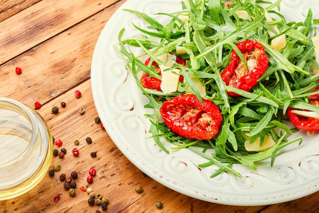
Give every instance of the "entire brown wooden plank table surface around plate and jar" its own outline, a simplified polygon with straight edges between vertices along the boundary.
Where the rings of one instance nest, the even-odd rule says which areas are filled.
[[[143,0],[144,1],[144,0]],[[146,1],[146,0],[145,0]],[[177,193],[150,177],[144,177],[119,151],[105,130],[95,124],[97,113],[91,93],[90,66],[95,43],[112,14],[125,1],[117,0],[1,0],[0,1],[0,97],[10,97],[33,107],[44,117],[52,135],[68,151],[61,171],[46,175],[30,192],[0,201],[0,212],[95,212],[89,206],[86,186],[88,170],[97,176],[90,185],[109,197],[107,212],[318,212],[319,192],[298,200],[265,206],[230,206],[204,202]],[[15,67],[21,67],[17,75]],[[80,90],[81,98],[73,92]],[[61,101],[66,108],[61,108]],[[51,108],[60,107],[52,115]],[[85,109],[84,115],[78,110]],[[92,144],[85,139],[91,137]],[[79,157],[71,153],[79,140]],[[57,148],[55,146],[55,148]],[[62,147],[61,147],[62,148]],[[97,151],[97,157],[90,153]],[[64,190],[59,176],[77,171],[76,196]],[[0,180],[1,181],[1,180]],[[142,185],[141,194],[135,192]],[[58,203],[54,197],[61,195]],[[155,207],[162,201],[162,209]],[[102,210],[101,210],[102,211]]]

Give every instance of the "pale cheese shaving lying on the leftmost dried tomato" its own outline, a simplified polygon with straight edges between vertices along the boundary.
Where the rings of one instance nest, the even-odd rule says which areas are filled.
[[[169,71],[164,71],[170,67],[159,65],[159,68],[162,70],[162,83],[161,83],[161,90],[166,93],[170,94],[172,92],[177,91],[179,75],[173,72],[179,73],[178,69],[173,69]]]

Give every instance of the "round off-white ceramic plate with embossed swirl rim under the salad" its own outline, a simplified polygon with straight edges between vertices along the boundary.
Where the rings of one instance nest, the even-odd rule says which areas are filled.
[[[319,4],[313,0],[283,0],[282,13],[288,20],[304,19],[311,8],[319,17]],[[115,12],[105,25],[95,46],[92,60],[92,91],[98,114],[110,137],[125,156],[139,169],[156,181],[182,194],[222,204],[265,205],[297,199],[319,189],[319,135],[303,136],[304,142],[289,145],[278,153],[274,167],[270,161],[258,163],[257,170],[242,165],[234,169],[243,175],[237,178],[223,173],[209,178],[218,168],[199,169],[196,165],[206,160],[188,150],[161,151],[147,132],[150,123],[143,115],[150,113],[143,108],[148,102],[141,94],[125,63],[114,50],[117,36],[126,29],[124,38],[132,38],[139,32],[131,22],[146,28],[142,19],[122,11],[132,9],[167,22],[158,12],[174,12],[181,9],[180,0],[140,1],[128,0]],[[172,147],[165,142],[166,147]]]

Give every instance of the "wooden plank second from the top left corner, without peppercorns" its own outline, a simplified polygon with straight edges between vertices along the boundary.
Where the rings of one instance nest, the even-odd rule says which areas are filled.
[[[43,0],[0,22],[0,64],[119,0]],[[87,28],[91,32],[92,28]]]

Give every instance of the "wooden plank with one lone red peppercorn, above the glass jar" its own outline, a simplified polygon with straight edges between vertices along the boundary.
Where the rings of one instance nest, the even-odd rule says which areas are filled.
[[[33,105],[85,81],[97,38],[122,2],[0,66],[0,96]],[[22,69],[20,75],[15,73],[17,66]]]

